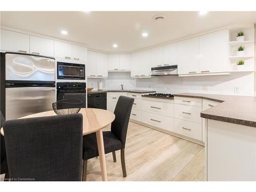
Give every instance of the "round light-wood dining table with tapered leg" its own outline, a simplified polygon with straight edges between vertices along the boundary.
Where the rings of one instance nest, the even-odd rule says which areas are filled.
[[[82,108],[79,113],[81,113],[83,116],[82,134],[88,135],[91,133],[96,133],[102,181],[107,181],[108,178],[106,175],[106,162],[102,130],[104,127],[110,125],[114,121],[115,114],[110,111],[94,108]],[[20,117],[19,119],[54,115],[56,115],[54,111],[46,111]],[[1,134],[4,136],[3,127],[1,127]]]

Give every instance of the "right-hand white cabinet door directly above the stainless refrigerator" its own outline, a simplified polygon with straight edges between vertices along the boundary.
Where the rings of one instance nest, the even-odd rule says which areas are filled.
[[[47,38],[30,35],[30,53],[54,56],[54,41]]]

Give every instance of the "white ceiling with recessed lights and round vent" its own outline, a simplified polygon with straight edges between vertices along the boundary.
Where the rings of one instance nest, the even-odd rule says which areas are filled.
[[[157,23],[153,17],[163,14]],[[1,12],[1,25],[62,38],[106,52],[131,52],[225,25],[256,23],[255,12]],[[67,30],[68,35],[60,33]],[[142,37],[142,32],[148,36]],[[113,48],[118,44],[118,48]]]

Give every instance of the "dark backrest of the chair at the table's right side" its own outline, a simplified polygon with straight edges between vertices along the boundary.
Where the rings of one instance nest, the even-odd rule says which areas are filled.
[[[116,118],[111,124],[111,132],[122,142],[122,148],[125,147],[133,102],[134,98],[120,96],[114,111]]]

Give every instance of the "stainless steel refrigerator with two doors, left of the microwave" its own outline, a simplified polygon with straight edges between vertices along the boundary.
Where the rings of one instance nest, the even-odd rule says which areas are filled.
[[[5,117],[17,119],[52,110],[55,59],[31,54],[5,54]]]

